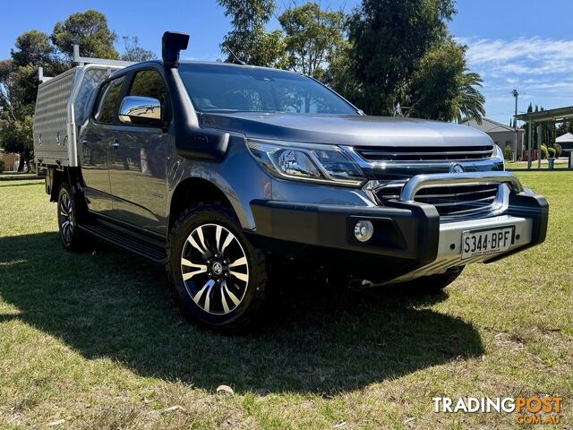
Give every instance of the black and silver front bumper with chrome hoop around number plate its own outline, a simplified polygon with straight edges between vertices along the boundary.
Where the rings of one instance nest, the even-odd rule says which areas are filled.
[[[460,180],[461,176],[457,177]],[[346,272],[377,282],[410,280],[470,262],[493,262],[542,243],[549,214],[547,201],[524,192],[515,176],[499,177],[510,178],[509,202],[503,213],[481,219],[446,222],[434,206],[415,202],[414,185],[416,189],[422,186],[423,178],[405,188],[400,200],[389,201],[386,206],[253,201],[256,236],[270,239],[259,240],[258,244],[273,250],[283,248],[291,254],[305,251],[309,256],[328,256],[330,263],[343,264]],[[374,236],[367,243],[355,238],[354,227],[359,219],[370,220],[374,226]],[[514,228],[509,250],[462,260],[464,231],[503,227]],[[296,248],[293,244],[304,246]]]

